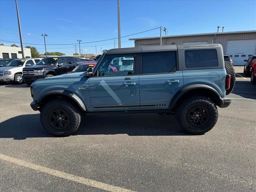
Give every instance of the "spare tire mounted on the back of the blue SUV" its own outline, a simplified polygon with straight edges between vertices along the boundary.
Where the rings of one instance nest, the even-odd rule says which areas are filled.
[[[227,74],[230,75],[230,88],[226,90],[226,95],[230,94],[236,84],[236,72],[233,66],[233,61],[229,55],[224,55],[224,62]]]

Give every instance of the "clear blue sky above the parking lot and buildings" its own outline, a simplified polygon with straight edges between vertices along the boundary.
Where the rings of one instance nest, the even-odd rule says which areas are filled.
[[[71,44],[118,37],[117,0],[18,0],[23,43]],[[168,35],[256,30],[256,1],[120,0],[121,36],[159,26]],[[133,47],[128,38],[159,36],[159,29],[121,39],[122,47]],[[0,39],[19,42],[14,0],[0,0]],[[3,41],[1,41],[3,42]],[[5,45],[12,43],[3,42]],[[24,46],[28,45],[24,44]],[[114,48],[114,40],[81,44],[83,53]],[[116,47],[118,42],[116,41]],[[44,45],[35,46],[44,53]],[[74,53],[74,45],[47,46],[48,52]]]

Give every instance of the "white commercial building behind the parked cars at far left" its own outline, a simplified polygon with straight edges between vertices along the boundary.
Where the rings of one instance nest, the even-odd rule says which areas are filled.
[[[24,57],[31,58],[30,48],[24,48]],[[0,58],[22,58],[20,47],[0,46]]]

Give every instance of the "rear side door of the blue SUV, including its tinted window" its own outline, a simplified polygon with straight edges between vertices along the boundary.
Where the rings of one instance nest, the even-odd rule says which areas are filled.
[[[141,109],[168,108],[183,86],[182,71],[177,71],[177,51],[143,52],[139,83]]]

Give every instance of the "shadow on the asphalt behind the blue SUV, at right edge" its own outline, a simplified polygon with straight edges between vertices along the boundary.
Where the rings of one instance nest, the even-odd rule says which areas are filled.
[[[232,94],[256,100],[256,84],[252,84],[250,81],[236,81]]]

